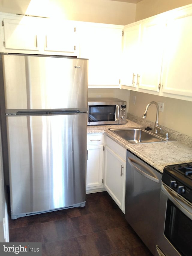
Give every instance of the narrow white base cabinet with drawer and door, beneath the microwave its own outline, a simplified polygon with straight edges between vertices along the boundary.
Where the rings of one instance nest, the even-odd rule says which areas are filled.
[[[103,155],[104,134],[88,134],[87,136],[87,193],[104,190]]]

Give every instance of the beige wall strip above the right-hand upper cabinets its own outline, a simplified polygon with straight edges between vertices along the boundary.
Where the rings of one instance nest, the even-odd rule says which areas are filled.
[[[192,4],[192,0],[143,0],[137,3],[136,21]]]

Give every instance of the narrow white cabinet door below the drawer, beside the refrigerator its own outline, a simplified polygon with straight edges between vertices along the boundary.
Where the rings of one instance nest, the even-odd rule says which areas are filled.
[[[102,185],[103,145],[87,146],[87,188]]]

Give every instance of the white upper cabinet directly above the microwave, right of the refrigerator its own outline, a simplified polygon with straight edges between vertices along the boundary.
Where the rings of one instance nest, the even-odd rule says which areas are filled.
[[[82,23],[80,58],[88,58],[89,88],[119,88],[123,26]]]

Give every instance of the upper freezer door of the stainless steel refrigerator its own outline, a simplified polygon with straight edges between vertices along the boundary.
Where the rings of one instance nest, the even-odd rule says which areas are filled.
[[[87,111],[87,59],[46,55],[1,56],[5,109]]]

